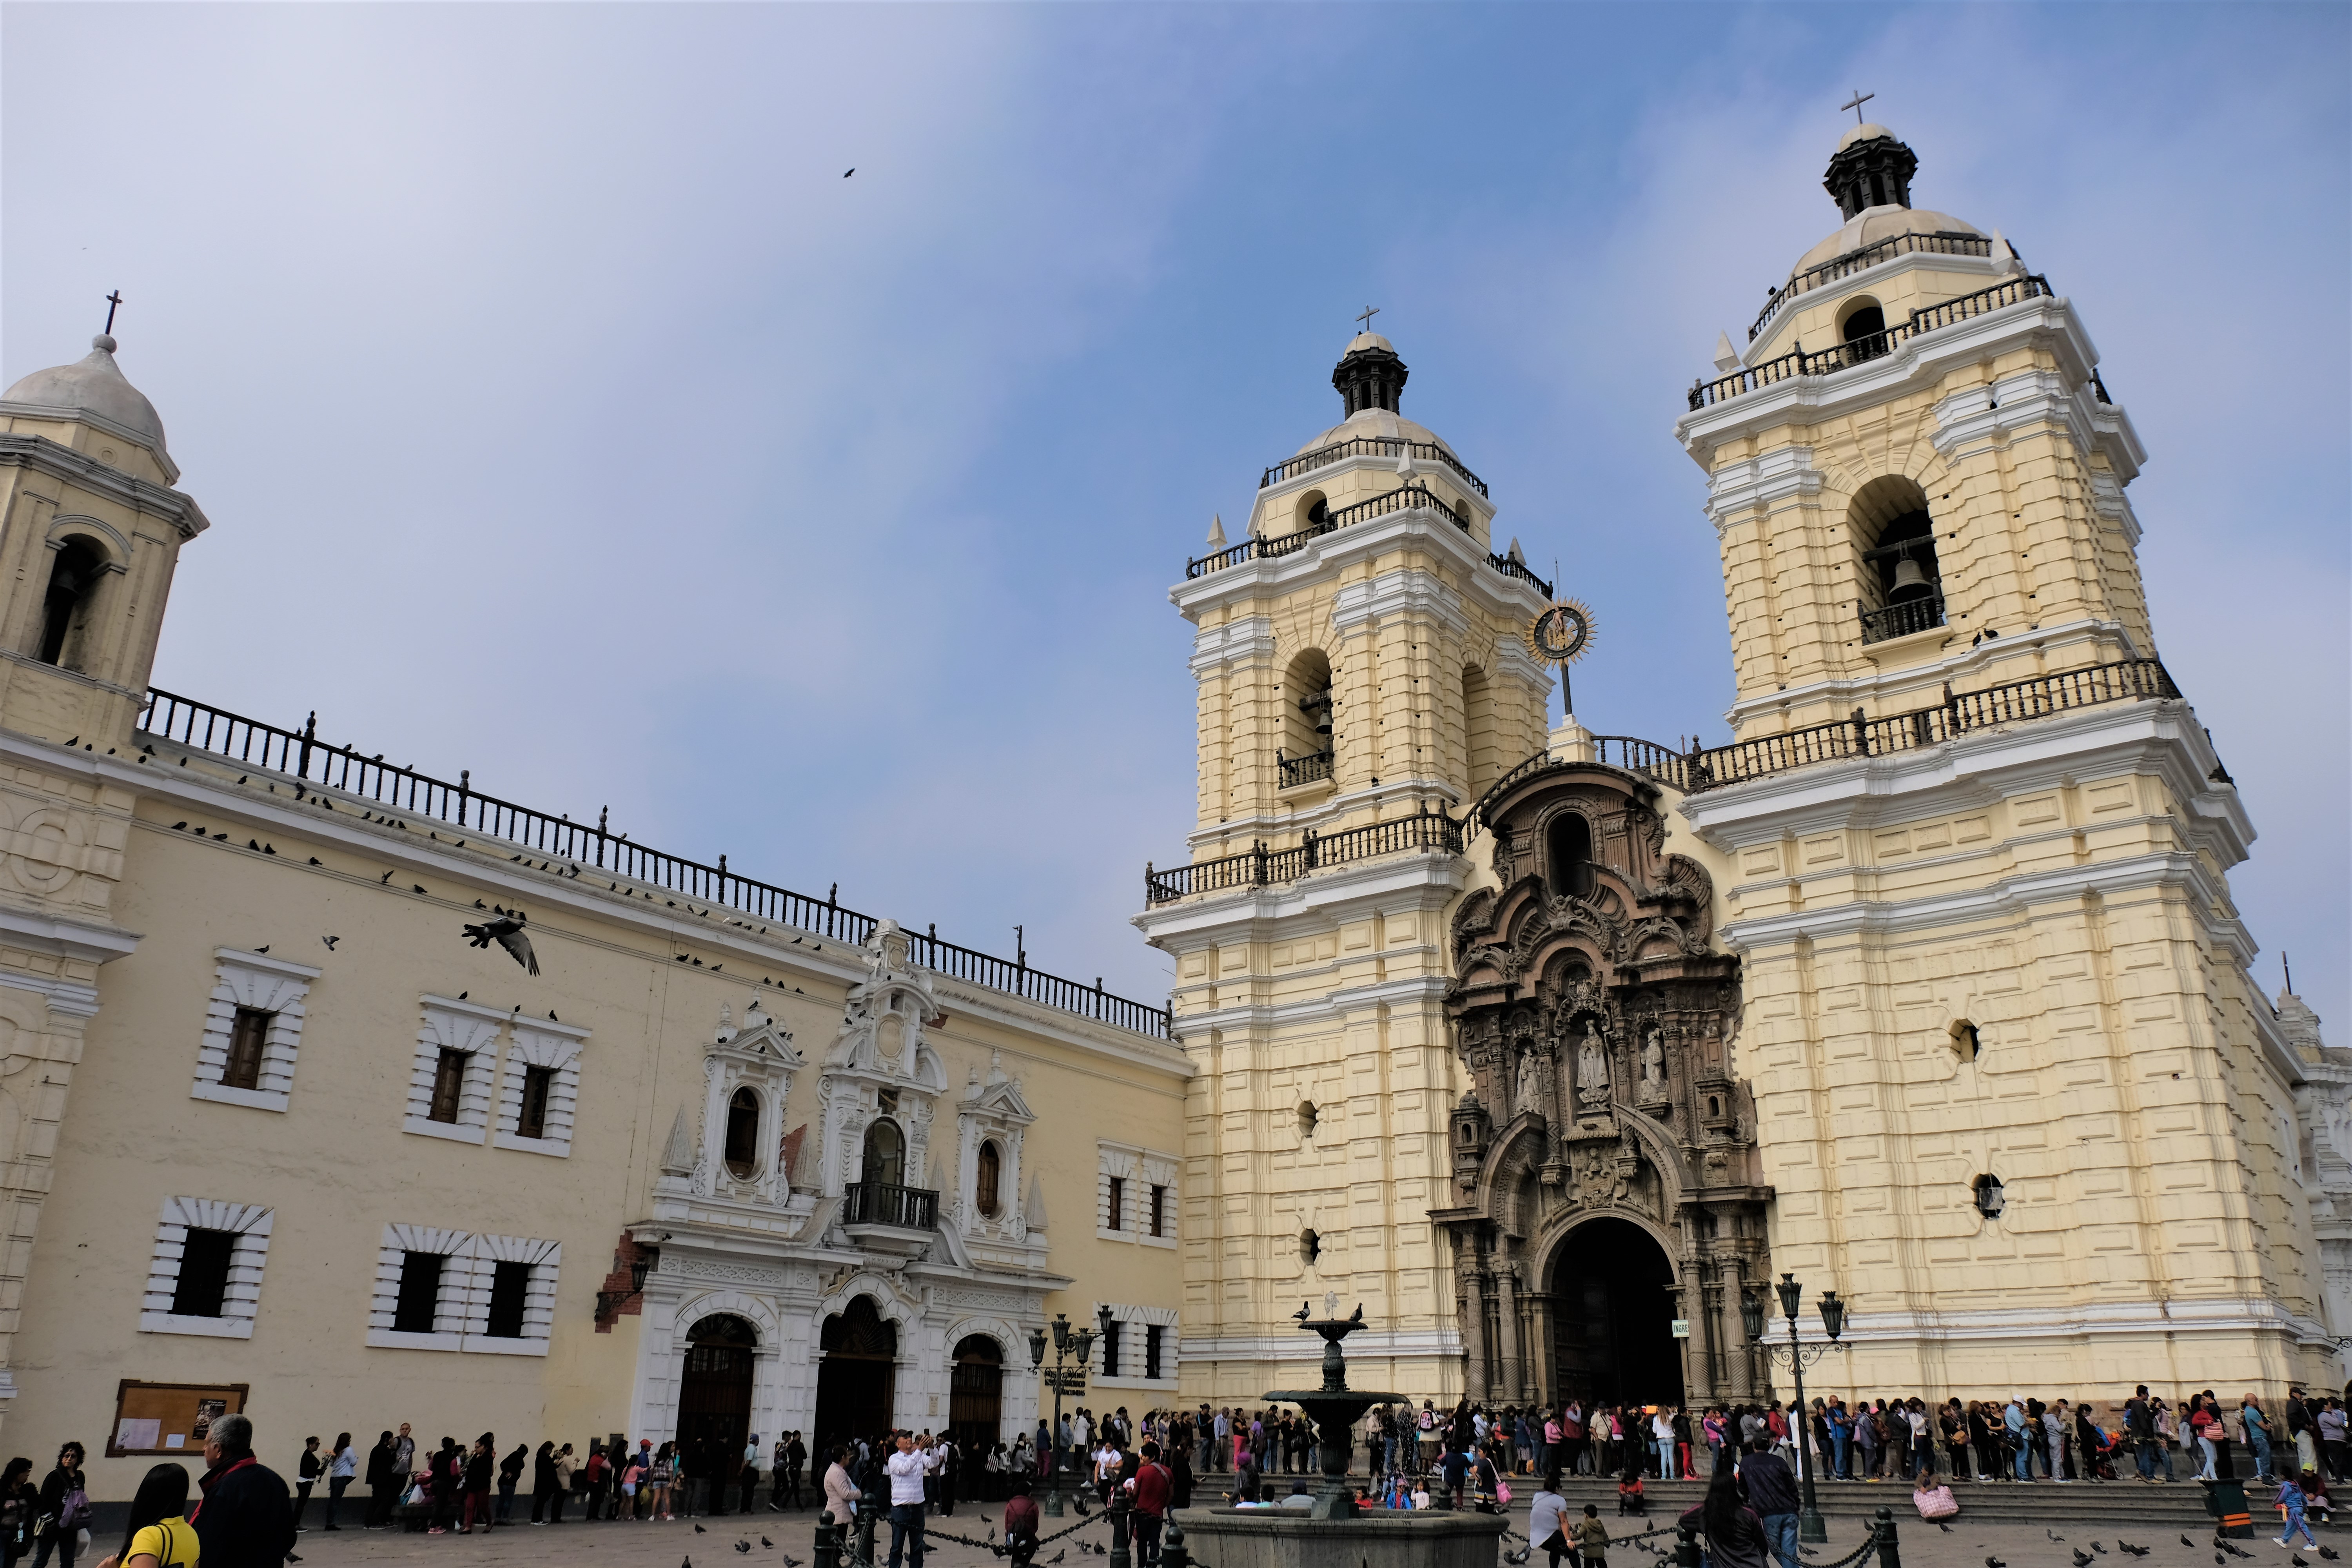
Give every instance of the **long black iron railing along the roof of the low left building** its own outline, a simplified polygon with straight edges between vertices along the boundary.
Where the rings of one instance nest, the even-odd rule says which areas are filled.
[[[628,877],[647,886],[680,893],[682,898],[748,914],[750,919],[776,922],[811,936],[830,936],[840,943],[858,945],[873,936],[875,917],[847,910],[840,889],[826,898],[795,893],[790,889],[757,882],[727,870],[727,856],[717,865],[703,865],[684,856],[670,856],[644,844],[633,844],[626,832],[607,830],[607,818],[597,811],[595,825],[574,823],[569,813],[546,813],[532,806],[482,795],[473,788],[473,771],[459,773],[456,783],[419,773],[416,769],[390,766],[383,755],[362,757],[350,745],[327,745],[318,738],[318,715],[296,729],[278,729],[233,715],[209,703],[195,703],[169,691],[148,691],[148,708],[141,719],[148,736],[176,741],[191,750],[235,759],[240,766],[285,773],[292,780],[308,780],[318,790],[332,790],[348,799],[365,799],[390,816],[435,818],[470,827],[492,839],[503,839],[527,851],[520,858],[546,860],[550,870],[595,867],[612,879]],[[334,809],[334,799],[322,802]],[[1094,1018],[1152,1039],[1169,1037],[1169,1013],[1160,1006],[1115,997],[1103,983],[1084,985],[1030,969],[1028,959],[1000,959],[974,947],[938,940],[936,933],[908,933],[910,959],[971,985],[1009,992],[1042,1006]]]

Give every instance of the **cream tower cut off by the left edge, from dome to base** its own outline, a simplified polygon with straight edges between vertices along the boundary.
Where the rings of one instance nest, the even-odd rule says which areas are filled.
[[[207,527],[176,480],[111,336],[0,393],[0,1399],[99,966],[139,945],[113,914],[132,741],[179,548]]]

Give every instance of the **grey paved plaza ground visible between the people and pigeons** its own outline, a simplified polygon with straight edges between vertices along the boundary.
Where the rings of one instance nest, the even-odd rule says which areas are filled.
[[[2103,1488],[2105,1490],[2105,1488]],[[1931,1523],[1919,1521],[1907,1509],[1907,1495],[1900,1495],[1905,1505],[1898,1514],[1898,1542],[1903,1554],[1903,1568],[1985,1568],[1985,1559],[1999,1559],[2004,1568],[2074,1568],[2072,1554],[2077,1549],[2089,1552],[2091,1542],[2098,1542],[2103,1552],[2093,1554],[2098,1568],[2209,1568],[2213,1563],[2211,1526],[2206,1528],[2183,1528],[2180,1521],[2157,1523],[2150,1519],[2145,1526],[2117,1526],[2117,1523],[2072,1523],[2063,1516],[2065,1505],[2056,1495],[2049,1497],[2049,1519],[2037,1519],[2030,1523],[2018,1521],[1971,1521],[1966,1505],[1969,1495],[1962,1493],[1962,1516],[1952,1521],[1950,1530],[1938,1530]],[[1604,1521],[1611,1533],[1628,1535],[1637,1528],[1670,1526],[1672,1516],[1656,1509],[1646,1521],[1618,1521],[1602,1509]],[[703,1519],[703,1535],[694,1533],[694,1523],[680,1519],[670,1523],[562,1523],[562,1526],[508,1526],[492,1530],[489,1535],[407,1535],[393,1530],[341,1530],[336,1535],[325,1535],[310,1530],[301,1537],[303,1568],[343,1568],[346,1563],[588,1563],[593,1568],[680,1568],[680,1563],[691,1563],[691,1568],[724,1568],[727,1563],[748,1563],[753,1568],[788,1568],[783,1563],[790,1554],[802,1568],[809,1566],[811,1540],[814,1540],[814,1514],[811,1512],[786,1512],[769,1514],[760,1512],[755,1516],[720,1516]],[[931,1526],[941,1530],[955,1530],[957,1535],[985,1537],[988,1523],[997,1519],[997,1505],[957,1505],[953,1519],[934,1519]],[[2256,1509],[2256,1523],[2274,1528],[2277,1514]],[[1077,1516],[1063,1521],[1047,1521],[1047,1533],[1063,1526],[1080,1523]],[[1526,1528],[1526,1505],[1524,1500],[1512,1507],[1512,1530]],[[2065,1535],[2065,1542],[2049,1540],[2051,1530]],[[1867,1526],[1860,1514],[1832,1514],[1830,1516],[1830,1542],[1828,1547],[1809,1549],[1806,1556],[1818,1556],[1820,1563],[1837,1563],[1849,1556],[1853,1547],[1863,1542]],[[2180,1535],[2197,1544],[2183,1547]],[[762,1535],[774,1542],[774,1547],[762,1544]],[[2336,1526],[2321,1526],[2319,1537],[2338,1549],[2352,1530]],[[2119,1552],[2117,1542],[2129,1540],[2133,1544],[2150,1547],[2145,1559],[2133,1559]],[[750,1542],[750,1552],[736,1552],[736,1542]],[[1080,1563],[1094,1561],[1098,1568],[1103,1559],[1091,1552],[1075,1549],[1075,1542],[1087,1540],[1108,1547],[1110,1526],[1096,1512],[1087,1528],[1077,1530],[1070,1540],[1054,1542],[1040,1552],[1040,1568],[1054,1561],[1061,1552],[1061,1568],[1077,1568]],[[1517,1549],[1524,1542],[1505,1542]],[[877,1533],[877,1559],[889,1549],[889,1528]],[[1665,1547],[1672,1552],[1672,1535],[1661,1535],[1646,1547]],[[2241,1549],[2251,1552],[2251,1559],[2227,1559],[2230,1568],[2260,1568],[2263,1563],[2279,1563],[2291,1568],[2288,1554],[2270,1544],[2270,1533],[2263,1530],[2253,1540],[2239,1542]],[[2314,1552],[2307,1547],[2298,1549],[2310,1568],[2326,1568]],[[976,1547],[962,1547],[953,1542],[938,1542],[924,1559],[931,1568],[1002,1568],[1004,1559],[997,1559]],[[2352,1563],[2352,1559],[2345,1559]],[[1534,1568],[1541,1568],[1543,1559],[1534,1559]],[[1649,1556],[1644,1547],[1618,1547],[1609,1556],[1611,1568],[1658,1568],[1658,1559]],[[1204,1568],[1216,1568],[1216,1563],[1204,1563]],[[1875,1559],[1863,1568],[1875,1568]]]

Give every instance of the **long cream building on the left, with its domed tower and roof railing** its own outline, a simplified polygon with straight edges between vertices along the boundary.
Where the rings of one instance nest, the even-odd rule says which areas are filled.
[[[0,1413],[94,1493],[416,1432],[1169,1403],[1167,1013],[148,684],[205,512],[113,339],[0,397]]]

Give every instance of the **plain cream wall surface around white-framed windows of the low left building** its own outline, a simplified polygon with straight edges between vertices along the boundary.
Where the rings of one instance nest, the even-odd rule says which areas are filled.
[[[214,788],[233,795],[226,778]],[[118,790],[111,804],[111,820],[120,823],[125,795]],[[181,818],[230,839],[174,832]],[[783,952],[774,964],[748,959],[734,933],[715,940],[724,910],[713,910],[713,919],[680,912],[668,922],[675,940],[659,940],[637,912],[600,917],[602,889],[583,886],[586,879],[522,877],[496,851],[470,877],[459,867],[475,851],[452,849],[449,870],[423,870],[412,860],[421,825],[372,827],[348,811],[322,820],[336,832],[306,839],[285,827],[254,832],[186,799],[139,806],[115,914],[146,936],[99,980],[101,1011],[59,1135],[54,1197],[16,1340],[19,1396],[9,1425],[28,1450],[80,1439],[96,1455],[118,1378],[252,1382],[249,1410],[270,1453],[287,1460],[303,1434],[332,1439],[350,1429],[365,1441],[400,1420],[416,1422],[421,1436],[494,1429],[501,1439],[555,1436],[586,1450],[588,1436],[628,1427],[640,1324],[621,1316],[612,1333],[595,1333],[595,1291],[621,1227],[652,1206],[677,1107],[701,1100],[703,1046],[722,1006],[741,1018],[757,997],[793,1030],[809,1067],[793,1086],[783,1126],[807,1124],[814,1145],[818,1063],[842,1018],[844,985],[863,973],[854,950],[828,940],[821,957],[800,957],[779,929],[771,947]],[[353,830],[383,842],[397,867],[390,886],[381,882],[388,858],[353,844]],[[249,837],[278,853],[247,849]],[[308,865],[313,856],[322,865]],[[407,891],[416,884],[428,891]],[[475,898],[532,910],[539,978],[499,947],[463,943],[459,926],[477,917]],[[332,952],[325,936],[339,938]],[[275,959],[322,971],[306,999],[289,1107],[193,1100],[214,950],[263,945]],[[706,964],[677,964],[677,952]],[[724,964],[724,973],[710,964]],[[783,980],[781,992],[762,987],[762,973]],[[402,1131],[419,999],[468,992],[501,1013],[520,1004],[524,1018],[553,1011],[590,1032],[567,1159]],[[0,992],[0,1001],[24,997]],[[955,1185],[953,1105],[967,1072],[985,1074],[990,1053],[1000,1053],[1037,1114],[1023,1166],[1042,1180],[1049,1267],[1075,1276],[1068,1291],[1047,1298],[1047,1312],[1091,1319],[1098,1300],[1176,1307],[1174,1239],[1169,1246],[1096,1239],[1094,1215],[1096,1140],[1176,1154],[1181,1058],[1134,1041],[1157,1060],[1138,1067],[1122,1063],[1117,1048],[1080,1048],[988,1016],[990,1009],[960,1001],[948,985],[941,1001],[948,1025],[927,1039],[948,1070],[931,1140],[950,1187],[943,1211]],[[997,1001],[1004,1013],[1025,1009]],[[1108,1041],[1115,1032],[1094,1034]],[[816,1150],[807,1147],[802,1171],[814,1168]],[[908,1180],[920,1182],[922,1173]],[[141,1295],[167,1197],[275,1208],[252,1340],[141,1333]],[[1007,1194],[1014,1204],[1023,1199],[1025,1192]],[[388,1222],[560,1241],[550,1354],[367,1347]],[[1007,1368],[1007,1378],[1025,1375],[1025,1361]],[[94,1460],[99,1495],[129,1495],[148,1462]]]

